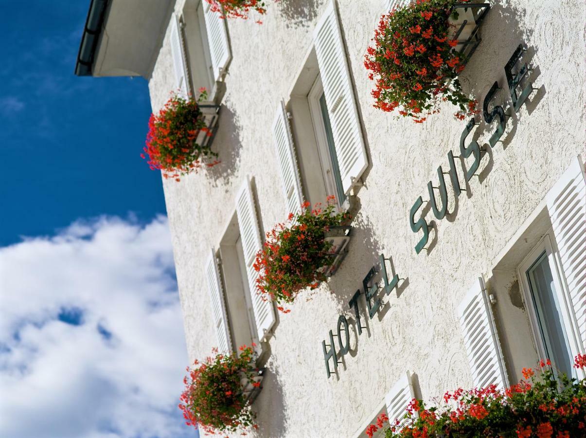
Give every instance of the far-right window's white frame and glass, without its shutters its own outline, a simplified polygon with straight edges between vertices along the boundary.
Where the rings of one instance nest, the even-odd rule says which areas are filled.
[[[539,356],[550,359],[554,372],[559,370],[568,376],[575,375],[564,322],[569,320],[569,315],[564,310],[563,288],[548,235],[529,253],[517,271],[522,279]]]

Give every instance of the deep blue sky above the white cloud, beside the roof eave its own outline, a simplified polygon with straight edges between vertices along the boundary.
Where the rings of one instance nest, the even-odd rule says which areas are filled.
[[[144,79],[74,76],[90,0],[0,0],[0,245],[79,217],[165,213],[161,176],[139,158]]]

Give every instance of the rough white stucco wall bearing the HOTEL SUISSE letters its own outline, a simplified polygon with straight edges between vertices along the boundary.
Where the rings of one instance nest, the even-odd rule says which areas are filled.
[[[176,10],[182,3],[178,0]],[[179,183],[164,182],[191,359],[207,355],[216,344],[204,263],[233,215],[245,176],[254,177],[264,230],[287,214],[271,124],[312,46],[325,2],[268,3],[263,25],[229,21],[233,60],[214,140],[222,164]],[[458,155],[465,122],[454,120],[449,105],[423,125],[372,107],[363,56],[383,4],[338,0],[370,169],[357,193],[356,229],[342,267],[311,301],[299,300],[275,326],[269,372],[254,405],[260,426],[255,436],[352,436],[405,370],[417,376],[416,392],[426,400],[471,385],[455,309],[476,278],[490,281],[498,254],[571,160],[578,154],[584,158],[584,2],[491,1],[483,41],[462,74],[463,86],[482,102],[495,80],[505,84],[503,67],[524,42],[537,67],[534,86],[539,90],[509,120],[505,147],[499,144],[482,159],[479,178],[470,181],[457,202],[448,185],[448,216],[436,221],[431,250],[415,254],[419,236],[409,228],[409,210],[418,196],[428,199],[427,182],[437,180],[439,165],[447,168],[448,151]],[[149,83],[154,110],[174,84],[167,35]],[[502,96],[509,100],[505,90]],[[490,132],[481,124],[475,137],[482,145]],[[428,212],[427,220],[432,219]],[[321,341],[341,312],[352,316],[347,302],[380,252],[392,257],[406,280],[399,294],[385,300],[383,313],[366,321],[360,337],[353,325],[350,353],[338,376],[327,379]],[[515,291],[516,280],[509,280],[508,286],[503,280],[492,287],[499,300],[497,322],[505,328],[500,337],[504,344],[522,337],[530,345],[518,286]],[[364,314],[363,301],[361,306]],[[522,330],[507,331],[507,319]],[[531,366],[536,358],[529,348],[514,361],[506,359],[508,366]],[[519,370],[509,371],[514,380]]]

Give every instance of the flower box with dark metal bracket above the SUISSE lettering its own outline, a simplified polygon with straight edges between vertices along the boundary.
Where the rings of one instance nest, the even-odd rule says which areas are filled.
[[[489,3],[456,3],[452,7],[448,19],[451,24],[448,36],[458,40],[453,50],[461,53],[465,61],[470,59],[482,40],[479,30],[489,10]],[[454,12],[458,14],[457,19],[452,16]]]

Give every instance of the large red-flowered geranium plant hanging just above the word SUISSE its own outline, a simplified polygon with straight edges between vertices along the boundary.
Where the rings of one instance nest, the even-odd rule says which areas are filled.
[[[468,0],[462,0],[468,1]],[[466,96],[457,79],[466,59],[449,39],[448,22],[456,0],[417,0],[383,15],[374,30],[364,66],[376,81],[375,108],[394,111],[423,123],[440,112],[440,103],[459,107],[458,118],[476,114],[476,101]]]

